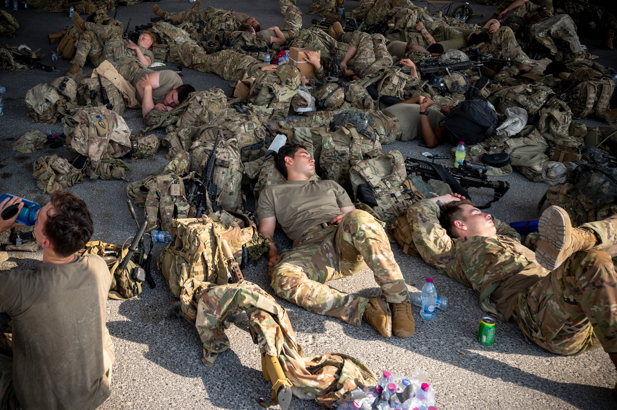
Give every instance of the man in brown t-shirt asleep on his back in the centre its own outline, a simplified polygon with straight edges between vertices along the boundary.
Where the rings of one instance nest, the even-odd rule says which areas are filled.
[[[312,181],[315,160],[301,144],[284,145],[275,157],[287,182],[268,185],[259,196],[259,233],[270,241],[268,275],[277,295],[320,315],[360,326],[362,319],[384,337],[414,331],[408,292],[383,226],[355,209],[346,191],[331,180]],[[276,222],[294,241],[278,255]],[[366,299],[325,283],[373,270],[381,297]]]

